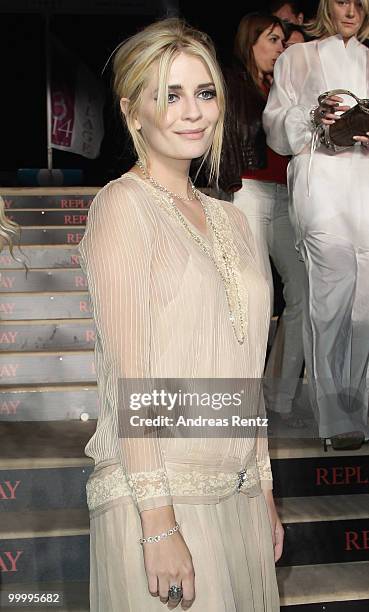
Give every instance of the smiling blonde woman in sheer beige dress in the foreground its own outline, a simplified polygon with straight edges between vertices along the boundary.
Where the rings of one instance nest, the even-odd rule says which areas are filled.
[[[135,437],[119,393],[121,380],[262,376],[269,297],[247,221],[189,179],[195,158],[218,174],[221,71],[209,38],[178,19],[124,42],[113,70],[139,159],[96,196],[79,247],[100,394],[86,447],[91,611],[277,612],[265,436]]]

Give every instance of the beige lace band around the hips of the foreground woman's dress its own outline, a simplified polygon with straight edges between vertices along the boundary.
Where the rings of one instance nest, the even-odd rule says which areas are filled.
[[[169,488],[167,486],[169,484]],[[247,491],[260,484],[256,465],[241,472],[177,472],[168,469],[168,478],[163,470],[153,472],[124,473],[118,467],[101,477],[92,475],[86,485],[87,505],[90,511],[102,504],[122,496],[131,496],[140,502],[150,497],[173,495],[226,497],[239,491]],[[132,487],[132,488],[131,488]]]

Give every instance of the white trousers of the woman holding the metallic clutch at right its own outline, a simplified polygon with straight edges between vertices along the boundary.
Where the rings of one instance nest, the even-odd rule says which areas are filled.
[[[305,261],[303,339],[319,434],[368,429],[369,180],[366,154],[316,151],[288,168],[291,220]]]

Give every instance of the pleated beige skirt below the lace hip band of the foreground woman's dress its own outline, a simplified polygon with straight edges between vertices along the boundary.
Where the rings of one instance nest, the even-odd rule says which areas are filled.
[[[191,500],[193,501],[193,500]],[[196,598],[191,612],[277,612],[274,554],[263,494],[234,493],[218,503],[176,503],[191,552]],[[163,612],[147,587],[141,522],[129,497],[90,513],[91,612]],[[155,544],[153,544],[155,546]],[[181,605],[175,610],[181,610]]]

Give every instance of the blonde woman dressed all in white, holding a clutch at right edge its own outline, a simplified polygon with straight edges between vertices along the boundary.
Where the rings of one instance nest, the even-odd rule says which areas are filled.
[[[308,28],[318,37],[276,62],[264,111],[269,146],[293,155],[290,215],[308,273],[304,348],[320,436],[357,449],[368,436],[369,138],[328,148],[316,136],[340,120],[352,99],[318,96],[347,89],[369,97],[368,0],[321,0]]]

